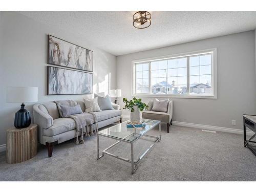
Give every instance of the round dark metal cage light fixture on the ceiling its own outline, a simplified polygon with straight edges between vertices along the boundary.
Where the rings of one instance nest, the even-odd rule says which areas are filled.
[[[147,11],[138,11],[133,15],[133,26],[138,29],[145,29],[151,25],[151,14]]]

